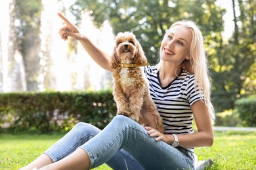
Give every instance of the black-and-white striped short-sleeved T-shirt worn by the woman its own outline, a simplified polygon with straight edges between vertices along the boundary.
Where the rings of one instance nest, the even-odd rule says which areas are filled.
[[[142,68],[148,78],[150,95],[163,118],[165,133],[194,133],[191,106],[195,101],[202,99],[194,86],[194,75],[182,70],[168,86],[161,87],[158,65]],[[187,149],[194,151],[193,148]]]

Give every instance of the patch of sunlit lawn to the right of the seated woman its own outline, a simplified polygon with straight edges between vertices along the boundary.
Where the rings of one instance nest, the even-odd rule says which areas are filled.
[[[198,160],[211,158],[211,169],[256,169],[256,132],[215,132],[211,147],[196,148]]]

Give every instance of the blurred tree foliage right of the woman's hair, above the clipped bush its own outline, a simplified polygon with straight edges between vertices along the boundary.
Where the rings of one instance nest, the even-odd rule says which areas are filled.
[[[212,60],[216,63],[213,101],[219,110],[232,109],[236,99],[255,94],[255,5],[238,1],[237,11],[232,0],[232,7],[234,33]]]

